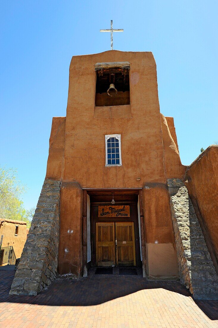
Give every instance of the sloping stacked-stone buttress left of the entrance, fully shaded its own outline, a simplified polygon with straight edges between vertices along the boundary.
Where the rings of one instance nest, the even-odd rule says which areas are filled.
[[[45,179],[9,294],[37,295],[57,275],[60,181]]]

